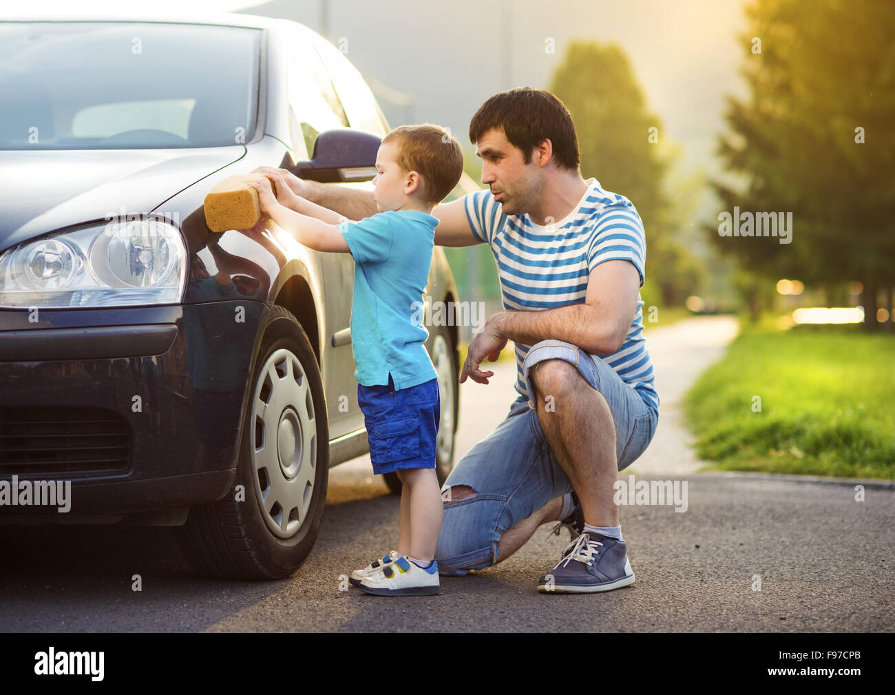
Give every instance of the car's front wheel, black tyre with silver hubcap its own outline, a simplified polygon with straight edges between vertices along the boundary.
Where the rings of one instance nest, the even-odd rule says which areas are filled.
[[[317,540],[327,497],[329,433],[311,342],[285,308],[271,307],[251,378],[234,491],[195,505],[175,529],[200,574],[283,579]]]

